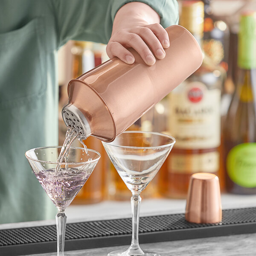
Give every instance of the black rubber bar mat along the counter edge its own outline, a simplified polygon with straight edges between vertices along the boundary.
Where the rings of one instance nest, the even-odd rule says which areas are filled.
[[[256,232],[256,207],[223,210],[218,224],[193,224],[184,214],[140,218],[140,244]],[[131,218],[70,223],[65,251],[131,243]],[[0,230],[0,255],[17,256],[57,251],[56,226]]]

